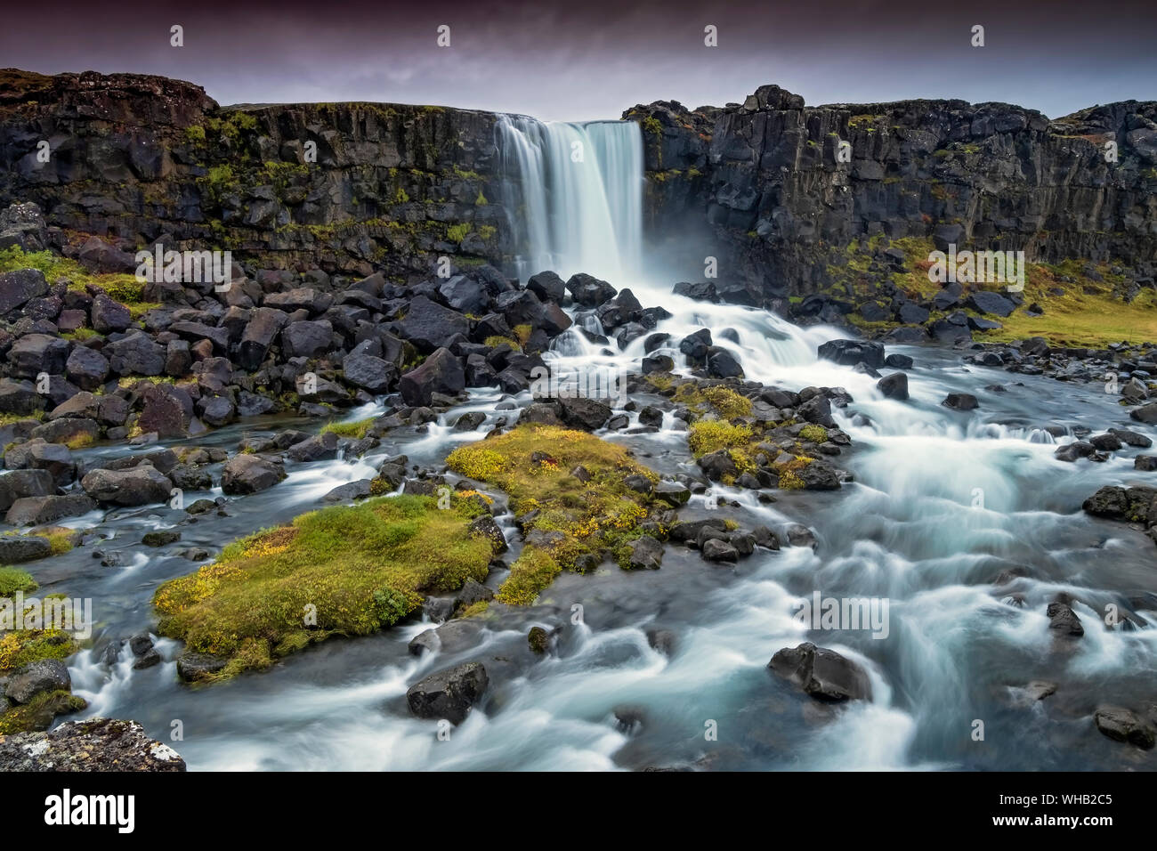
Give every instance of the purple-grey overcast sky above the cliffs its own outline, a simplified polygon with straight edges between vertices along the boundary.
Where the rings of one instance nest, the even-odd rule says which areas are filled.
[[[169,44],[172,24],[183,47]],[[449,47],[436,44],[442,24]],[[974,24],[983,47],[970,44]],[[163,74],[222,104],[384,101],[548,120],[656,100],[722,105],[768,82],[810,105],[960,97],[1059,117],[1157,100],[1155,43],[1154,0],[54,0],[8,8],[0,66]]]

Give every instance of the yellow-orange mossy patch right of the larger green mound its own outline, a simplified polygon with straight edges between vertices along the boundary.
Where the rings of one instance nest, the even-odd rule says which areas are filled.
[[[611,550],[619,563],[625,544],[639,537],[648,515],[647,497],[624,479],[658,477],[621,446],[559,426],[521,425],[496,438],[462,446],[447,457],[451,470],[506,491],[516,515],[537,512],[524,533],[544,533],[523,548],[499,588],[498,600],[533,603],[563,570],[588,552]],[[582,467],[589,479],[572,471]]]

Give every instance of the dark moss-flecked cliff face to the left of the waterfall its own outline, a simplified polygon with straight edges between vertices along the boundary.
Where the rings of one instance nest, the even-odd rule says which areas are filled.
[[[165,78],[7,69],[0,201],[39,204],[58,242],[69,230],[163,237],[268,266],[429,274],[440,256],[470,266],[508,252],[487,198],[494,123],[441,107],[222,109]]]

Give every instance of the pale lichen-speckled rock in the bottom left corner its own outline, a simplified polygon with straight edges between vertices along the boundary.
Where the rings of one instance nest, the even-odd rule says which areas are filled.
[[[0,736],[0,771],[184,771],[168,744],[137,721],[90,718],[51,733]]]

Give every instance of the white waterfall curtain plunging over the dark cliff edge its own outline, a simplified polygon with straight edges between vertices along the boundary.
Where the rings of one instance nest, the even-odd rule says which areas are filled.
[[[636,124],[502,116],[495,134],[519,278],[545,269],[563,278],[638,274],[643,159]]]

